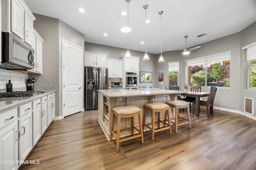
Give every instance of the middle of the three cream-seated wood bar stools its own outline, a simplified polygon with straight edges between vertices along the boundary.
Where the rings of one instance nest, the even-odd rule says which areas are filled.
[[[152,113],[150,123],[145,123],[147,110],[150,110]],[[166,121],[160,120],[161,111],[165,111],[165,118],[168,117],[166,120],[168,121],[168,123],[166,123]],[[155,121],[155,113],[158,113],[158,121]],[[164,124],[164,127],[160,128],[160,122]],[[158,123],[159,129],[155,129],[155,123]],[[149,127],[149,125],[152,125],[152,127]],[[167,127],[165,125],[167,125]],[[170,107],[164,103],[150,103],[150,104],[144,105],[144,115],[143,115],[143,123],[142,123],[143,131],[145,126],[152,131],[152,141],[154,141],[155,132],[170,129],[170,135],[172,135],[172,128],[171,128],[171,122],[170,122]]]

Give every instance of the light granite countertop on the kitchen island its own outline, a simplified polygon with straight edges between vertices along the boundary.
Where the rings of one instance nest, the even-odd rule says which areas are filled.
[[[110,98],[126,98],[132,96],[154,96],[161,94],[181,94],[183,91],[176,90],[162,90],[162,89],[108,89],[98,90],[98,92]]]

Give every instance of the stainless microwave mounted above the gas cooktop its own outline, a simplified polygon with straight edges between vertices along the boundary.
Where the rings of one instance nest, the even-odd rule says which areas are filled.
[[[34,68],[34,49],[12,33],[2,32],[2,64],[12,70]]]

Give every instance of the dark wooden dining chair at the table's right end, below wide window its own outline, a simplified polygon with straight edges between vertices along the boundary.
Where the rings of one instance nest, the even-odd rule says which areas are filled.
[[[206,107],[207,117],[210,117],[209,109],[210,109],[210,113],[212,113],[212,115],[214,115],[213,102],[214,102],[214,98],[215,98],[216,92],[217,92],[217,87],[211,87],[210,94],[208,96],[207,101],[200,100],[200,102],[199,102],[200,106]],[[192,113],[193,114],[194,114],[194,110],[195,110],[195,104],[196,104],[196,102],[194,101],[193,102],[193,107],[192,107]]]

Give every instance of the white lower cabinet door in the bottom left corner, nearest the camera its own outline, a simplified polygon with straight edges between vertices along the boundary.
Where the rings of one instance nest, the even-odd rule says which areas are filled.
[[[17,110],[18,114],[18,110]],[[17,118],[17,117],[16,117]],[[0,160],[14,161],[0,164],[1,170],[15,170],[18,168],[18,121],[0,130]]]

